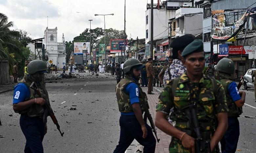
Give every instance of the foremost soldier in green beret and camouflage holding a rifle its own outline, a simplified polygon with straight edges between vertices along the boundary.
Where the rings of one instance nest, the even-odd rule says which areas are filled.
[[[227,129],[224,88],[214,78],[203,76],[204,54],[201,40],[189,44],[181,54],[187,71],[164,86],[159,96],[155,123],[172,136],[170,153],[216,153]],[[166,120],[172,107],[174,126]]]

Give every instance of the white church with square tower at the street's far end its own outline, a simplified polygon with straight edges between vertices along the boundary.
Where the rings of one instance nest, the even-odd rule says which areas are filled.
[[[64,33],[62,34],[62,42],[57,42],[57,27],[55,29],[48,29],[46,27],[44,31],[44,44],[45,51],[48,56],[48,65],[57,65],[58,68],[62,68],[66,64],[66,45]]]

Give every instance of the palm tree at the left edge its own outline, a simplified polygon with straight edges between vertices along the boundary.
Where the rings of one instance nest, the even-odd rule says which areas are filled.
[[[15,59],[14,53],[10,53],[10,50],[18,51],[16,47],[16,41],[13,40],[15,36],[19,35],[19,32],[10,30],[13,26],[13,22],[8,22],[8,17],[0,13],[0,58],[7,58],[9,61],[9,73],[12,72],[12,66],[14,65]]]

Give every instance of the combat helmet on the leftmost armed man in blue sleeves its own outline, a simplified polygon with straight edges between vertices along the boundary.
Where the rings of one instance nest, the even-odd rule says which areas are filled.
[[[28,65],[28,73],[34,74],[36,72],[46,73],[47,72],[47,65],[42,60],[33,60]]]

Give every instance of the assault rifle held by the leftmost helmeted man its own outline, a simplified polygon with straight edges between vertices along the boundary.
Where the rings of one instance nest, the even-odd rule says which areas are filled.
[[[39,97],[43,98],[43,97],[42,97],[42,94],[41,94],[41,92],[39,91],[39,89],[37,88],[37,86],[36,86],[36,88],[35,88],[34,85],[36,86],[36,84],[35,84],[34,82],[32,82],[32,84],[30,85],[30,87],[31,87],[33,90],[36,91],[36,93],[39,95]],[[45,100],[46,100],[46,99],[45,99]],[[55,117],[55,115],[54,115],[54,113],[53,113],[53,110],[52,110],[52,108],[51,108],[51,106],[50,106],[50,102],[46,101],[46,103],[45,103],[45,108],[46,108],[46,109],[44,110],[44,115],[43,115],[44,121],[46,122],[47,116],[50,116],[51,119],[53,120],[53,123],[57,126],[57,129],[59,130],[60,135],[63,137],[64,132],[61,132],[61,131],[60,131],[60,126],[59,126],[58,121],[57,121],[57,119],[56,119],[56,117]]]

